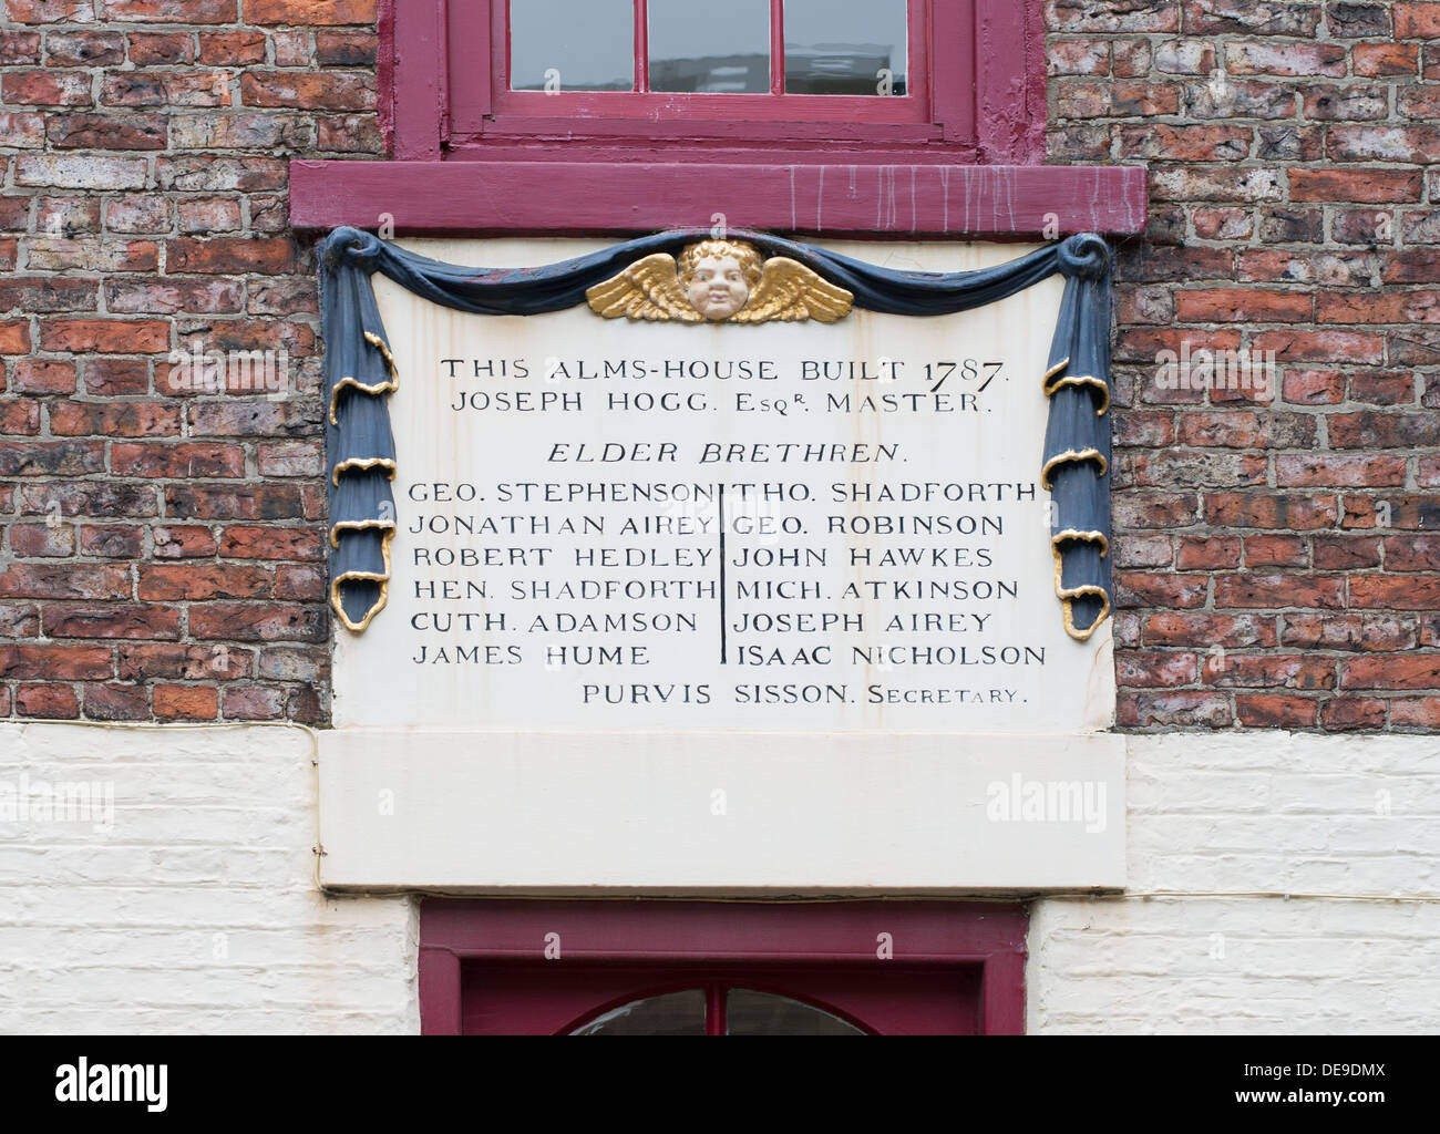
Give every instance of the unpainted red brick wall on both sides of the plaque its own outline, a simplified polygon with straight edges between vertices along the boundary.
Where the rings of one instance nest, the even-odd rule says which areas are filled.
[[[328,718],[287,158],[380,151],[374,0],[4,0],[0,717]],[[1120,255],[1129,728],[1440,724],[1440,3],[1048,0]],[[285,351],[279,391],[171,350]],[[1161,351],[1274,353],[1274,390]],[[202,367],[192,367],[202,373]]]

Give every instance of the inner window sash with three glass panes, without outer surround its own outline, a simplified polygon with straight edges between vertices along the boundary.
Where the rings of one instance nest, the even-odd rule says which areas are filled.
[[[723,9],[503,0],[492,23],[495,114],[456,108],[451,141],[641,125],[703,134],[737,121],[799,137],[860,137],[857,124],[932,125],[927,9],[926,0],[727,0]],[[926,134],[935,130],[912,137]]]

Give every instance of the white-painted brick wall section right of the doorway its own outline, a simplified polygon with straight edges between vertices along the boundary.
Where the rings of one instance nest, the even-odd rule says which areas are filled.
[[[1139,897],[1433,895],[1437,856],[1440,738],[1130,737],[1130,892],[1035,902],[1028,1030],[1440,1030],[1437,902]]]

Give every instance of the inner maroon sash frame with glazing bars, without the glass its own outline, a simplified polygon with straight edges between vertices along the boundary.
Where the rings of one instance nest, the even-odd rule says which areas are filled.
[[[945,135],[943,122],[966,117],[963,102],[953,95],[968,89],[973,55],[962,50],[952,69],[959,82],[943,85],[940,102],[930,96],[932,10],[936,0],[906,0],[910,17],[907,94],[891,98],[840,95],[786,95],[782,71],[772,72],[772,89],[765,95],[688,95],[647,92],[645,10],[648,0],[635,3],[635,86],[632,92],[572,92],[547,95],[510,91],[510,0],[451,0],[449,37],[452,43],[477,40],[488,43],[491,72],[480,68],[456,72],[452,68],[449,148],[462,151],[495,137],[534,138],[543,135],[573,138],[577,134],[621,141],[723,137],[730,140],[909,140],[932,141]],[[780,0],[770,0],[770,53],[783,58],[783,26],[773,13]],[[973,19],[975,0],[940,0],[942,26]],[[481,24],[488,6],[488,36]],[[488,106],[482,111],[481,106]]]

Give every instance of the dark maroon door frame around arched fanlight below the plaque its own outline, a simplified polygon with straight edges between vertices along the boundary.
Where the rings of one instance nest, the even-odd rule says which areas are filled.
[[[428,898],[420,1029],[552,1035],[635,999],[723,981],[880,1033],[1021,1035],[1027,924],[1022,907],[989,902]],[[880,934],[893,943],[888,960],[877,956]],[[560,957],[547,960],[556,941]]]

